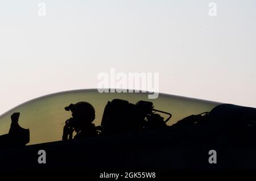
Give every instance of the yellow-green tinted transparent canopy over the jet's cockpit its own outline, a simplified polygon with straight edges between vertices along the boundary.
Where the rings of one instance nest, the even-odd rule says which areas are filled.
[[[104,134],[174,125],[185,117],[209,112],[221,104],[167,94],[148,99],[148,95],[141,92],[100,93],[96,89],[67,91],[30,100],[4,113],[0,116],[0,135],[9,133],[11,116],[20,113],[20,127],[30,131],[27,145],[63,140],[65,125],[75,124],[70,120],[72,107],[68,107],[80,102],[93,106],[95,117],[90,122]],[[147,119],[145,123],[144,117]]]

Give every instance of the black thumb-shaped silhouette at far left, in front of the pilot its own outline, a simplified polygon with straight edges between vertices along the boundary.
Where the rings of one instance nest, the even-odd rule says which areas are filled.
[[[26,146],[26,144],[30,142],[30,131],[29,129],[20,127],[18,123],[19,116],[19,112],[15,112],[11,115],[11,127],[9,134],[0,136],[1,148]]]

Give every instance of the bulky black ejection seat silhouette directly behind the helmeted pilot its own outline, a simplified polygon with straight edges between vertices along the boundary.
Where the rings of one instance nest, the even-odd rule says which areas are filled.
[[[168,119],[155,112],[169,115]],[[131,104],[126,100],[114,99],[106,104],[101,126],[103,134],[115,134],[131,131],[142,131],[153,128],[167,127],[171,113],[155,110],[152,102],[139,101]]]

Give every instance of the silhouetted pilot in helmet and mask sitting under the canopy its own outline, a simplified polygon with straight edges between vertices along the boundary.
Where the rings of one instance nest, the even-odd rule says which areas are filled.
[[[92,123],[95,119],[95,110],[88,102],[79,102],[65,107],[72,112],[71,119],[65,122],[63,128],[63,140],[79,140],[81,138],[98,136],[97,129]],[[73,138],[73,132],[76,132]]]

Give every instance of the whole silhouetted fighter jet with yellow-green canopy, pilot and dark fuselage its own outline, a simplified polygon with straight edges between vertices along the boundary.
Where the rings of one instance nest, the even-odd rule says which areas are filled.
[[[256,169],[256,108],[147,92],[59,92],[0,116],[0,168]]]

